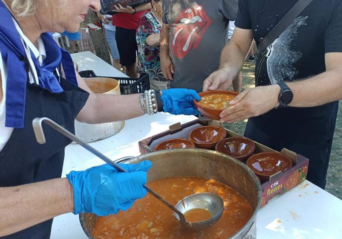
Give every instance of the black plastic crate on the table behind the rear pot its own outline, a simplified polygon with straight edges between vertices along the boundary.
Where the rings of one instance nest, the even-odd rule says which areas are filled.
[[[97,76],[91,70],[80,71],[78,74],[80,74],[80,76],[83,78],[106,77],[106,78],[116,79],[120,83],[121,95],[130,95],[130,94],[142,93],[145,90],[150,89],[149,77],[148,77],[148,74],[146,74],[146,73],[140,74],[139,78]]]

